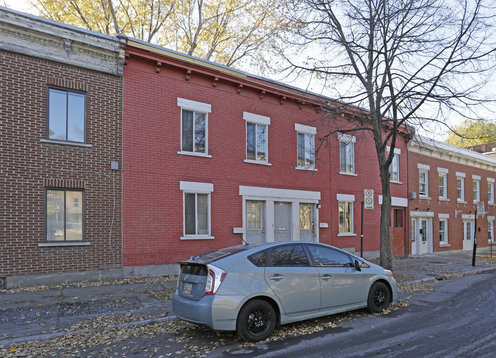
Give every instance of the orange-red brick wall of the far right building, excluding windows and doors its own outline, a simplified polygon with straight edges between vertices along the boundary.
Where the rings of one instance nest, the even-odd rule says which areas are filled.
[[[445,156],[448,158],[448,156]],[[422,155],[416,152],[408,152],[408,172],[409,172],[409,191],[415,191],[417,193],[417,199],[408,200],[409,201],[409,211],[426,212],[428,208],[431,209],[433,213],[433,251],[434,252],[445,252],[445,251],[456,251],[463,250],[463,214],[475,214],[476,205],[473,203],[473,179],[472,175],[480,176],[480,195],[481,200],[486,202],[486,211],[489,212],[484,217],[478,216],[477,227],[481,228],[481,231],[477,232],[477,247],[487,248],[488,244],[488,215],[496,215],[496,207],[494,205],[488,205],[488,180],[487,178],[495,178],[495,172],[491,170],[483,169],[483,166],[479,168],[463,164],[465,160],[460,162],[453,162],[450,160],[444,160],[441,158],[435,158],[431,156]],[[430,200],[420,199],[418,197],[419,191],[419,176],[417,164],[429,165],[430,170],[428,173],[428,192]],[[447,174],[447,198],[449,201],[439,200],[439,168],[448,169]],[[456,172],[465,173],[465,203],[457,202],[457,175]],[[456,211],[459,211],[457,214]],[[440,247],[439,245],[439,213],[449,214],[448,219],[448,244],[450,246]],[[410,213],[408,213],[410,216]],[[408,218],[408,223],[410,225],[410,218]],[[411,230],[409,230],[408,237],[411,242]],[[411,245],[409,245],[409,252],[411,253]]]

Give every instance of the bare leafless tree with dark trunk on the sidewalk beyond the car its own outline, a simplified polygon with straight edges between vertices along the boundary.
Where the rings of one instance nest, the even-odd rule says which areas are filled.
[[[492,4],[303,0],[291,11],[300,26],[282,51],[287,69],[324,80],[337,103],[355,108],[327,106],[328,135],[360,130],[373,137],[382,186],[380,264],[387,269],[392,268],[389,165],[398,130],[445,123],[449,114],[477,116],[492,103],[484,96],[496,64]],[[316,55],[297,62],[295,47]],[[337,127],[333,116],[350,111],[355,125]]]

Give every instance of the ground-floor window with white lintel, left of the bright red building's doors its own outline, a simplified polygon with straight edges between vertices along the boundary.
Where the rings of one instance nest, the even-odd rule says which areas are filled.
[[[185,239],[213,239],[210,236],[210,193],[214,191],[211,183],[181,181],[184,200],[184,237]]]

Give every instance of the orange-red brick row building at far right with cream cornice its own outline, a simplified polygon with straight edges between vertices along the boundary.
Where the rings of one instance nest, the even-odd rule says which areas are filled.
[[[495,158],[420,138],[408,148],[408,173],[409,254],[472,251],[475,234],[477,250],[495,244]]]

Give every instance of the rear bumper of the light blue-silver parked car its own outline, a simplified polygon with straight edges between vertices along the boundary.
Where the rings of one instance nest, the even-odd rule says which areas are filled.
[[[236,331],[238,312],[247,297],[243,295],[206,295],[200,300],[184,298],[178,291],[172,296],[172,311],[187,322],[214,331]]]

